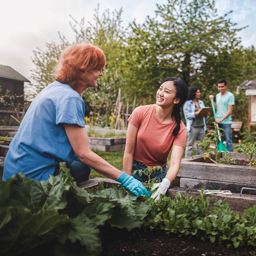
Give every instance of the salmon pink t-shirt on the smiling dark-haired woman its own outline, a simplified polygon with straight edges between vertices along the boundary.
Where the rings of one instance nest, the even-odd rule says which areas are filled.
[[[138,128],[134,160],[146,166],[164,167],[173,145],[184,147],[187,131],[185,124],[180,122],[180,131],[173,136],[176,121],[160,122],[156,117],[156,104],[139,106],[134,109],[128,121]]]

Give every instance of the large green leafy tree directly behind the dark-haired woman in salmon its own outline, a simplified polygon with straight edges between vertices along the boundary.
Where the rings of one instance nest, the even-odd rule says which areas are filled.
[[[130,55],[140,60],[135,62],[137,73],[141,63],[147,63],[149,81],[155,81],[156,76],[159,81],[172,75],[189,86],[198,85],[198,77],[208,77],[201,67],[209,56],[216,58],[223,50],[228,53],[239,46],[236,34],[243,28],[234,28],[236,24],[227,15],[217,16],[213,0],[167,0],[167,4],[157,5],[154,19],[148,17],[141,27],[135,22],[131,24],[134,36],[130,45],[137,48],[132,48],[134,52]],[[154,52],[153,57],[146,54],[148,49]],[[140,89],[147,91],[146,87]]]

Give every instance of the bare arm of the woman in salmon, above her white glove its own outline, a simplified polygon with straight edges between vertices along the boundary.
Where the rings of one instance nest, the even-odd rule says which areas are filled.
[[[167,178],[170,182],[173,182],[173,180],[178,175],[183,152],[184,152],[184,147],[176,146],[176,145],[173,146],[172,153],[171,153],[170,166],[165,176],[165,178]]]

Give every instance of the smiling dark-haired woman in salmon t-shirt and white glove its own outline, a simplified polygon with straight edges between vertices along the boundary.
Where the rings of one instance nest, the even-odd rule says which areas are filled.
[[[161,180],[158,191],[154,193],[155,200],[166,193],[180,169],[187,136],[180,108],[186,99],[186,83],[178,78],[166,78],[156,92],[156,104],[135,108],[128,119],[123,169],[132,175],[135,170],[144,170],[148,166],[163,167],[162,174],[156,171],[150,176]],[[167,171],[167,157],[171,149]],[[136,173],[134,177],[141,182],[147,180],[144,174],[140,177]]]

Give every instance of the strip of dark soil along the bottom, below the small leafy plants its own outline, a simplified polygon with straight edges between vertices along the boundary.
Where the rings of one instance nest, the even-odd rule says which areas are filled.
[[[256,255],[252,246],[238,249],[226,244],[213,244],[210,241],[167,235],[162,231],[145,231],[102,227],[103,250],[100,256],[250,256]]]

